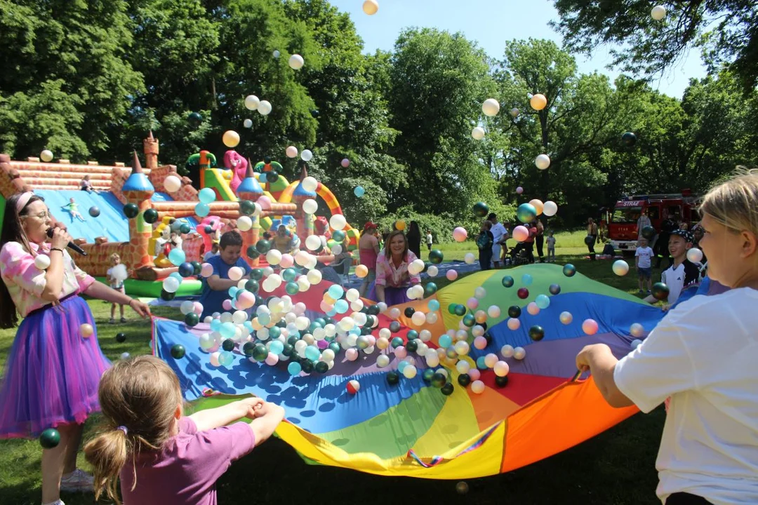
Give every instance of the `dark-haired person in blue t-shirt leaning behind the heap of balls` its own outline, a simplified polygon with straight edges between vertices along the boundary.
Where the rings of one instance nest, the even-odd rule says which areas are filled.
[[[239,232],[234,230],[226,232],[221,235],[218,256],[208,259],[208,264],[213,267],[213,273],[203,281],[202,295],[199,299],[202,304],[201,320],[215,312],[222,312],[224,300],[229,298],[229,288],[240,282],[239,279],[236,281],[229,279],[231,267],[240,267],[244,272],[243,279],[249,279],[252,269],[243,260],[242,244],[242,235]]]

